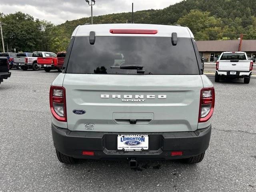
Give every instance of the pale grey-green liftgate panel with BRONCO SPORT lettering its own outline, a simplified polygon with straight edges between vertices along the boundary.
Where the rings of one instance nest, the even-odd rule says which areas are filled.
[[[180,132],[198,126],[200,75],[65,74],[63,87],[69,130]]]

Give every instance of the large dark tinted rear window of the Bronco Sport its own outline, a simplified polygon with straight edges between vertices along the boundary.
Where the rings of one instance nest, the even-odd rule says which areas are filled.
[[[94,45],[88,37],[76,37],[70,53],[67,73],[137,74],[122,65],[142,65],[144,74],[199,74],[196,54],[190,38],[97,36]]]

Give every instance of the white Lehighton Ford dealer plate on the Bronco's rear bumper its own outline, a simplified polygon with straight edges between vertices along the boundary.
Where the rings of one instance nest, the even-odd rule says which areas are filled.
[[[148,135],[118,135],[117,150],[148,150]]]

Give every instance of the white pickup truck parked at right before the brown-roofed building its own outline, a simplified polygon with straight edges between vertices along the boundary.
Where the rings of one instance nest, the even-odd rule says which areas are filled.
[[[220,77],[244,78],[244,83],[248,84],[252,67],[253,61],[246,52],[222,52],[216,62],[215,82],[220,82]]]

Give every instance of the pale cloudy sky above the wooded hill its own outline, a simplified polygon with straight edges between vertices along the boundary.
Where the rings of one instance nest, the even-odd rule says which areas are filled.
[[[105,15],[148,9],[162,9],[181,0],[95,0],[93,15]],[[91,15],[85,0],[0,0],[0,12],[4,14],[21,11],[40,20],[61,24]]]

